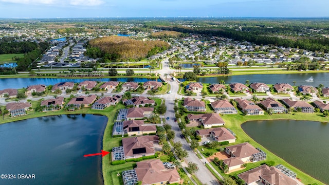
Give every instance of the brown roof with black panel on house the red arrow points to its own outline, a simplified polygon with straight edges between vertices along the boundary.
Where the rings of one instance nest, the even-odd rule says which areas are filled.
[[[141,148],[145,148],[144,150],[145,153],[142,154],[155,153],[153,143],[158,140],[159,140],[158,136],[139,136],[139,137],[131,137],[131,138],[122,138],[124,156],[130,157],[137,155],[136,152],[133,152],[134,149],[141,149]]]

